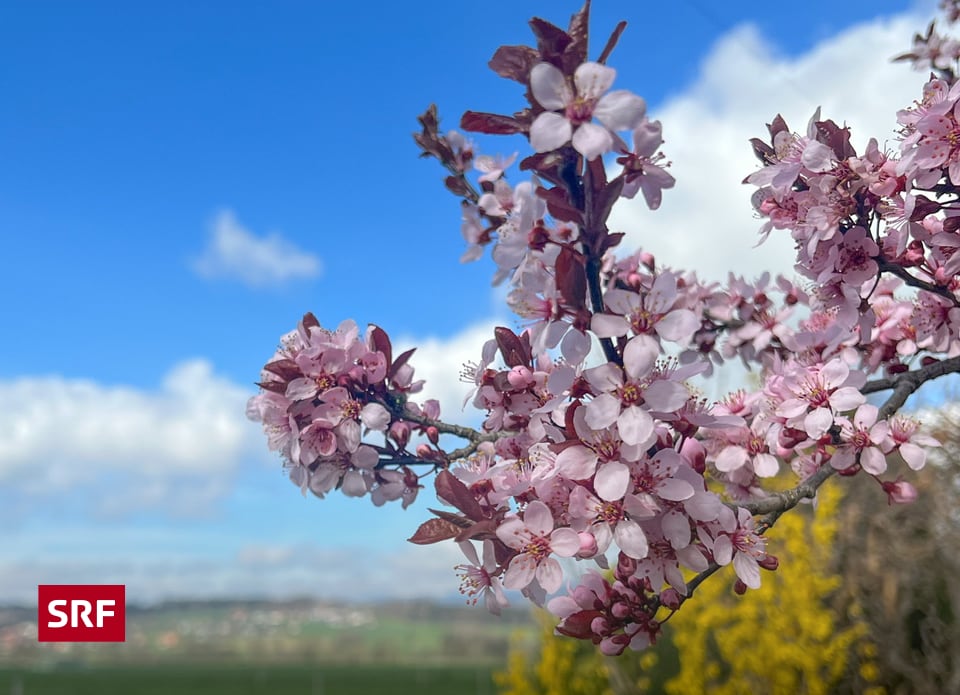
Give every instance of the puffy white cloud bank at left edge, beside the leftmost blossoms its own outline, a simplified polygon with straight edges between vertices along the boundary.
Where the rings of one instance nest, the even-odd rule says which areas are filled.
[[[156,391],[57,376],[0,382],[0,482],[25,493],[89,486],[109,513],[202,508],[254,442],[265,448],[245,419],[249,395],[204,360],[174,366]],[[123,501],[105,485],[122,486]]]

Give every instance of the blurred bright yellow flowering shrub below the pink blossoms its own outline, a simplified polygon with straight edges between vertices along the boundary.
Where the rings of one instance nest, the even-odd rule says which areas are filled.
[[[657,646],[641,654],[607,659],[589,643],[554,637],[546,616],[536,654],[517,646],[498,674],[501,692],[819,695],[836,692],[841,681],[849,687],[856,672],[861,692],[880,695],[883,689],[869,682],[876,666],[856,607],[848,606],[841,621],[830,605],[841,584],[828,569],[838,503],[839,492],[828,484],[816,513],[785,514],[769,534],[780,569],[764,572],[760,589],[735,595],[733,569],[724,568],[669,619]]]

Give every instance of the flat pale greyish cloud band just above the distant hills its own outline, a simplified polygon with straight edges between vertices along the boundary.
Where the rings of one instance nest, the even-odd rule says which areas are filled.
[[[85,557],[31,554],[0,557],[0,603],[31,603],[37,585],[53,578],[58,583],[126,584],[132,603],[237,596],[443,600],[458,596],[453,567],[464,561],[453,543],[402,544],[386,552],[309,543],[247,545],[233,553],[147,547],[138,553],[101,550]]]

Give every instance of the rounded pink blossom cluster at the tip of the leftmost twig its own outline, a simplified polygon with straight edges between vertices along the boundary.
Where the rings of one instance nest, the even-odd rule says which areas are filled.
[[[361,337],[356,323],[344,321],[329,331],[312,314],[281,339],[247,415],[263,423],[270,449],[304,494],[322,498],[336,489],[349,497],[369,493],[378,506],[413,502],[418,476],[407,465],[381,462],[402,460],[411,435],[425,429],[407,417],[440,415],[436,401],[421,409],[406,400],[423,386],[413,380],[411,352],[392,361],[381,329],[371,326]],[[382,434],[384,444],[366,443],[364,432]],[[437,454],[427,444],[417,451],[427,459]]]

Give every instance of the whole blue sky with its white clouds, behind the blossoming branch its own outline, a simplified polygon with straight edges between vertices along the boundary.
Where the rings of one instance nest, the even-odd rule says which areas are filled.
[[[855,142],[891,137],[922,76],[885,61],[932,3],[654,5],[593,12],[594,55],[629,22],[616,86],[663,120],[678,178],[656,216],[614,219],[673,265],[789,268],[789,244],[742,260],[746,137],[778,110],[801,128],[818,104],[864,125]],[[519,108],[486,61],[529,42],[530,16],[565,25],[578,6],[0,7],[0,603],[41,582],[138,600],[455,592],[455,548],[404,543],[429,497],[304,500],[243,404],[312,310],[425,343],[414,365],[460,417],[456,365],[509,319],[490,263],[458,263],[457,202],[410,134],[431,102],[447,127]]]

